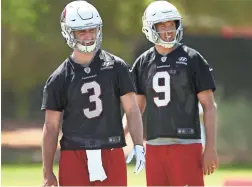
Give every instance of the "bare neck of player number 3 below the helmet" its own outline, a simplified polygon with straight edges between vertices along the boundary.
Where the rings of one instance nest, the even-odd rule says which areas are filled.
[[[75,49],[71,57],[78,64],[89,64],[95,56],[95,52],[82,53]]]

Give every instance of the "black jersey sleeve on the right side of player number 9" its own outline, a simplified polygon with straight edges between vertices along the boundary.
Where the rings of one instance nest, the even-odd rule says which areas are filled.
[[[195,82],[197,94],[205,90],[212,90],[214,92],[216,89],[213,68],[199,53],[196,56]]]

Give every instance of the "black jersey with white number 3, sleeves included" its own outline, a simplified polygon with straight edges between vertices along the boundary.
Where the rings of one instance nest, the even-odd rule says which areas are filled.
[[[44,87],[42,110],[63,111],[62,149],[125,146],[120,96],[135,92],[130,66],[99,50],[89,66],[67,58]]]

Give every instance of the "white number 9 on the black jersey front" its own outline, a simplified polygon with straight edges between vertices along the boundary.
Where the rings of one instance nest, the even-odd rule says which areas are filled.
[[[163,85],[159,85],[159,80],[164,80]],[[167,106],[171,101],[171,88],[170,88],[170,75],[166,71],[157,72],[153,76],[152,86],[156,93],[163,93],[164,97],[160,99],[160,97],[154,97],[154,103],[157,107]]]

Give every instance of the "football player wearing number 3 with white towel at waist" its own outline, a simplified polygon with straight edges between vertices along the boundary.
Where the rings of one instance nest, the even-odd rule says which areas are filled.
[[[59,185],[126,186],[121,103],[135,145],[135,172],[145,167],[142,119],[129,65],[100,49],[102,19],[93,5],[69,3],[60,23],[73,53],[44,87],[43,185],[58,185],[53,160],[63,114]]]

